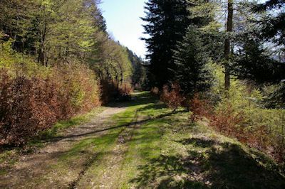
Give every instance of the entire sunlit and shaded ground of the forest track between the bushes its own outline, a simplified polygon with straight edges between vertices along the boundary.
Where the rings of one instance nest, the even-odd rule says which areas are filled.
[[[189,117],[135,93],[21,158],[2,152],[0,188],[285,188],[264,154]]]

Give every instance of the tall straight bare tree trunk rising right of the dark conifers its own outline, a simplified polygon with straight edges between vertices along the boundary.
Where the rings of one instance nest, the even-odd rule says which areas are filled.
[[[233,19],[234,9],[233,0],[228,0],[227,2],[227,28],[226,32],[232,32],[232,19]],[[224,90],[228,91],[230,87],[230,69],[229,69],[229,54],[231,51],[231,42],[229,36],[224,40]]]

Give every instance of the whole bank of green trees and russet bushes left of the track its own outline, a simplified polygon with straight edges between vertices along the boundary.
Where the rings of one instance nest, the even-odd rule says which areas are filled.
[[[24,144],[56,121],[100,106],[99,80],[130,95],[128,50],[106,33],[99,3],[1,1],[0,144]]]

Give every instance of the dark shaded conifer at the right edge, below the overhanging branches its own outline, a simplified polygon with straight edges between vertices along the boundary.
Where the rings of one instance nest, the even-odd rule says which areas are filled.
[[[271,58],[257,38],[243,38],[242,47],[235,53],[234,75],[256,84],[276,84],[284,78],[285,65]]]

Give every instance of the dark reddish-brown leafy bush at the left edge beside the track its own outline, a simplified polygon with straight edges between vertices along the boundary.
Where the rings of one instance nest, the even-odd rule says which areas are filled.
[[[1,75],[4,73],[1,72]],[[1,144],[23,144],[55,123],[56,94],[51,95],[54,91],[46,81],[4,76],[0,91]]]

